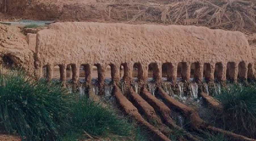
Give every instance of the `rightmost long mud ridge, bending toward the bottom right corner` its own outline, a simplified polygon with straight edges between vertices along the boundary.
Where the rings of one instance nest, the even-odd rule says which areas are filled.
[[[192,128],[194,128],[197,131],[202,131],[202,130],[209,130],[213,131],[215,133],[222,133],[229,137],[232,140],[236,141],[249,141],[249,140],[254,140],[251,138],[247,138],[242,135],[237,135],[235,133],[232,133],[230,131],[226,131],[223,129],[219,129],[217,127],[212,127],[209,124],[207,124],[205,121],[203,121],[199,115],[196,113],[196,111],[183,103],[178,102],[177,100],[171,98],[165,91],[163,91],[162,88],[158,87],[158,94],[163,98],[165,103],[168,105],[168,107],[174,108],[177,111],[180,111],[181,114],[183,114],[186,118],[190,120],[190,125]]]

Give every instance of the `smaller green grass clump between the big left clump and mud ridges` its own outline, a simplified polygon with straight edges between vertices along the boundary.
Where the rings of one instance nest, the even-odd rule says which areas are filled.
[[[70,122],[64,125],[68,131],[86,133],[93,136],[131,136],[132,124],[126,118],[118,117],[113,110],[102,107],[86,97],[79,97],[70,109]]]

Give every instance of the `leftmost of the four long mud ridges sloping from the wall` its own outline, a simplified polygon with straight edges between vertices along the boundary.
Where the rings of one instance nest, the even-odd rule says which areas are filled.
[[[153,125],[149,124],[144,118],[139,114],[138,109],[122,94],[121,90],[117,85],[114,85],[114,95],[116,96],[117,102],[126,114],[134,118],[137,122],[147,127],[152,133],[154,133],[154,138],[156,140],[171,141],[167,136],[163,135],[161,131],[156,129]]]

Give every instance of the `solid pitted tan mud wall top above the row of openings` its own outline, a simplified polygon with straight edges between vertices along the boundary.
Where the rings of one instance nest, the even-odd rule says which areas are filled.
[[[54,23],[37,33],[36,52],[41,65],[252,62],[241,32],[179,25]]]

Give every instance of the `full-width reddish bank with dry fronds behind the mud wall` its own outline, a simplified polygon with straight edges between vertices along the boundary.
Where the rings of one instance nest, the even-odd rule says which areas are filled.
[[[15,0],[1,5],[0,0],[0,10],[16,18],[197,25],[256,32],[255,0],[30,0],[17,4],[12,1]]]

